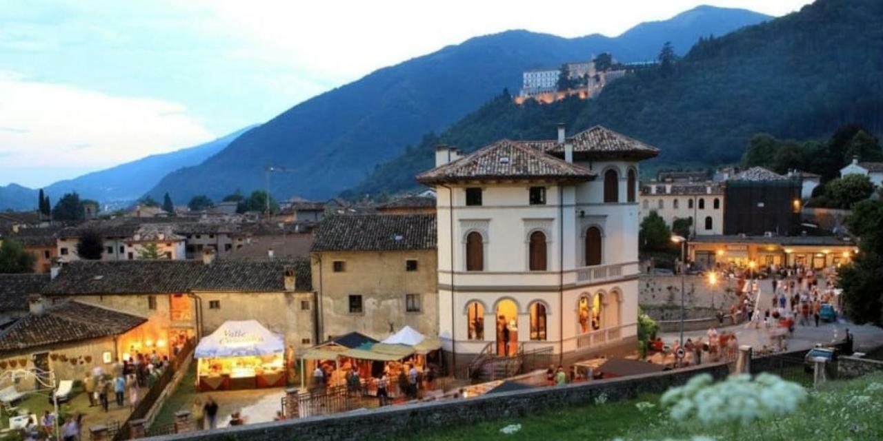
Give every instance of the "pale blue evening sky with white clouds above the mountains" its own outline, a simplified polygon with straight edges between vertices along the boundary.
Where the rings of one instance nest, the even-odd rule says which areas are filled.
[[[781,16],[808,3],[0,0],[0,185],[194,146],[473,36],[615,36],[699,4]]]

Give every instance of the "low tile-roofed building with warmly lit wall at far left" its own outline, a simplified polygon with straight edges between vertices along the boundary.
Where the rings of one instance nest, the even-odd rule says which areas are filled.
[[[86,303],[64,301],[46,305],[38,295],[29,299],[28,313],[0,333],[0,370],[54,370],[58,379],[81,379],[94,366],[110,371],[137,340],[147,318]],[[34,382],[20,381],[20,390]],[[0,385],[0,386],[6,386]]]

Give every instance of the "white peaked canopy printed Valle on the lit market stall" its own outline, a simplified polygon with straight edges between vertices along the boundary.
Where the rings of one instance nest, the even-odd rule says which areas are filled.
[[[225,358],[280,354],[285,351],[282,336],[271,333],[257,320],[226,321],[200,340],[195,358]]]

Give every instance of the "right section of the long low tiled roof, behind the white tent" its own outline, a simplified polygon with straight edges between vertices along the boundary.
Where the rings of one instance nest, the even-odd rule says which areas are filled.
[[[298,291],[313,289],[309,258],[215,260],[203,265],[193,291],[276,292],[284,291],[285,270],[295,271]]]

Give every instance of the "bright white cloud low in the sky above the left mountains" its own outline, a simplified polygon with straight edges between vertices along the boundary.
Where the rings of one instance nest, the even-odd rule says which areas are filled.
[[[31,168],[98,169],[215,138],[184,105],[0,71],[0,184]],[[28,184],[45,184],[35,176]],[[4,182],[6,181],[6,182]]]

